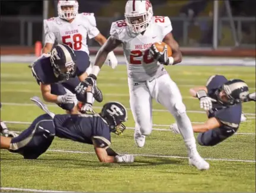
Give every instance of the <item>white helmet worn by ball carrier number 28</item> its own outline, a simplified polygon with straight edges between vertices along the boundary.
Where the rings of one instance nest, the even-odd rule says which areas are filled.
[[[133,33],[142,33],[153,17],[153,8],[149,0],[129,0],[126,3],[124,17]]]

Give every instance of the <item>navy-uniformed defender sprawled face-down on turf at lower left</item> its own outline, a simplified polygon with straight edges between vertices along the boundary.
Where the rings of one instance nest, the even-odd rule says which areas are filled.
[[[59,114],[50,112],[39,98],[33,97],[47,114],[40,115],[19,136],[2,137],[1,149],[20,153],[24,159],[37,159],[46,152],[55,136],[81,143],[93,144],[100,162],[133,162],[133,155],[118,155],[108,147],[110,132],[121,134],[127,120],[126,108],[119,102],[106,103],[100,114]]]

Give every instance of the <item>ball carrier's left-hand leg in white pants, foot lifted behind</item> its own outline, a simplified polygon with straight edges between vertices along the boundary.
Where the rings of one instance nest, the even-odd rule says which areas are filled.
[[[143,147],[146,136],[152,131],[152,98],[146,83],[129,80],[129,92],[130,108],[135,120],[135,143]]]

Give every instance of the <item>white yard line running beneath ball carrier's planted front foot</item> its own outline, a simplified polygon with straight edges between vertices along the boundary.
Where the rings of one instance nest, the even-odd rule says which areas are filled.
[[[49,149],[50,152],[61,152],[61,153],[85,153],[85,154],[94,154],[95,152],[81,152],[81,151],[68,151],[68,150],[53,150]],[[119,152],[117,152],[119,153]],[[120,153],[121,154],[121,153]],[[178,159],[188,159],[188,157],[181,156],[164,156],[164,155],[146,155],[146,154],[133,154],[135,156],[144,156],[144,157],[168,157],[168,158],[178,158]],[[204,158],[206,160],[214,161],[226,161],[226,162],[249,162],[255,163],[255,160],[243,160],[243,159],[223,159],[223,158]]]

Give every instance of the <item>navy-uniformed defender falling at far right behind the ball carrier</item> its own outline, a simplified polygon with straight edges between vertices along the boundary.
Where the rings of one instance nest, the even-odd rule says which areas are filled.
[[[200,99],[200,107],[209,118],[204,124],[193,125],[194,132],[200,133],[197,141],[201,146],[215,146],[231,137],[241,123],[241,103],[255,101],[255,92],[249,94],[247,83],[239,79],[228,81],[222,75],[211,76],[206,86],[191,88],[190,94]],[[180,133],[176,123],[170,128]]]

